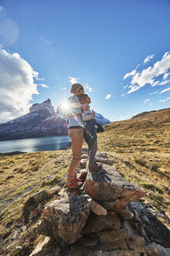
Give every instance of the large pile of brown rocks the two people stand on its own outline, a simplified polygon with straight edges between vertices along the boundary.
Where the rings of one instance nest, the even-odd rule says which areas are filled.
[[[101,171],[88,172],[81,192],[61,190],[43,209],[38,232],[50,236],[54,244],[47,251],[50,239],[44,240],[31,256],[170,254],[168,229],[154,218],[149,204],[146,208],[139,201],[146,192],[115,167],[103,164]]]

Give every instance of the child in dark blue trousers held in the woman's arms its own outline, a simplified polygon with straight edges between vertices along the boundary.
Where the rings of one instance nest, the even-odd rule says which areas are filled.
[[[85,121],[84,138],[88,144],[89,172],[99,171],[102,165],[97,165],[95,162],[95,153],[97,151],[96,129],[98,127],[98,123],[95,120],[95,112],[90,109],[91,98],[88,97],[88,94],[80,95],[79,101],[82,104],[82,108],[88,107],[87,110],[82,112],[82,120]]]

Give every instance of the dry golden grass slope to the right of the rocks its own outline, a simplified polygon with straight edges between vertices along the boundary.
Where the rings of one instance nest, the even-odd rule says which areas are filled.
[[[98,136],[99,151],[107,151],[128,180],[151,191],[147,200],[162,212],[170,212],[169,137],[170,108],[110,123]]]

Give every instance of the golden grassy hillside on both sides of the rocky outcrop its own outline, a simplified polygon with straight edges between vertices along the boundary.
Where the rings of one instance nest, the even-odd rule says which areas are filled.
[[[169,137],[170,108],[110,123],[98,136],[99,151],[108,153],[125,178],[148,191],[145,200],[157,208],[158,219],[165,225],[170,216]],[[49,190],[56,184],[63,187],[70,161],[71,148],[0,155],[0,245],[8,248],[4,255],[19,255],[17,245],[27,255],[38,243],[37,220],[25,226],[23,206],[38,190]]]

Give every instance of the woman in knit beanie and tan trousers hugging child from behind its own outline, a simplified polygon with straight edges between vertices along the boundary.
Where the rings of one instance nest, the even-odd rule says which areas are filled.
[[[66,186],[72,189],[82,186],[81,180],[78,180],[76,177],[76,170],[82,155],[83,130],[85,126],[82,120],[82,112],[88,110],[88,107],[82,107],[78,100],[78,97],[83,93],[84,89],[82,84],[72,84],[71,94],[73,94],[73,96],[68,99],[68,104],[70,105],[70,111],[67,114],[68,135],[71,137],[72,159],[68,169]]]

